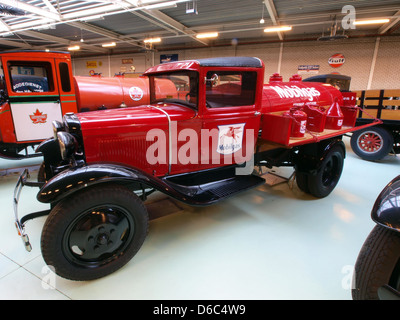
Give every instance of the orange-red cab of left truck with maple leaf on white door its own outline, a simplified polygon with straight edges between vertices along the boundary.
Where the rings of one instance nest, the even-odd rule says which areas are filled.
[[[0,152],[13,157],[47,139],[53,120],[76,112],[75,88],[69,54],[15,52],[0,59]]]

